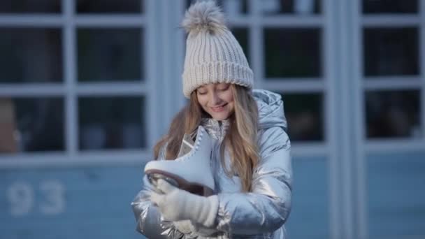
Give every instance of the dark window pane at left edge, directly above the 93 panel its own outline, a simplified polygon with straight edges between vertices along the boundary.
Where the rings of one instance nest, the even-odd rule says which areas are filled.
[[[64,150],[64,101],[0,98],[0,153]]]

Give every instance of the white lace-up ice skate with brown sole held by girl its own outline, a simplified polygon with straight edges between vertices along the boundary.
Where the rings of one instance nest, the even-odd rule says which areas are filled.
[[[214,191],[214,178],[210,168],[211,152],[211,138],[203,126],[199,126],[192,150],[175,160],[148,162],[145,174],[154,186],[162,178],[193,194],[210,196]]]

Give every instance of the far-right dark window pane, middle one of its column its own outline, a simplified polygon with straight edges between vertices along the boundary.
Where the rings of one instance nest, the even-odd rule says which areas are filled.
[[[418,29],[364,29],[365,75],[418,75]]]

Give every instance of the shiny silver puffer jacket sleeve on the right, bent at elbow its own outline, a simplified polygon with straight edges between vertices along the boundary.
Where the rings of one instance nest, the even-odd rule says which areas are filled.
[[[291,144],[284,129],[261,133],[260,160],[254,168],[249,193],[219,194],[217,229],[229,235],[271,233],[279,229],[291,210]]]

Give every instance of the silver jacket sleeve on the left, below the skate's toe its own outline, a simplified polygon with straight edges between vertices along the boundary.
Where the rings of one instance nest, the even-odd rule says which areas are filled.
[[[164,159],[164,150],[165,147],[161,149],[158,160]],[[143,189],[138,192],[131,203],[137,222],[136,230],[147,238],[184,238],[184,234],[175,229],[173,222],[161,219],[157,207],[149,200],[149,194],[152,190],[145,175],[143,177]]]

